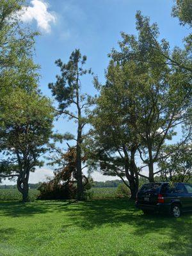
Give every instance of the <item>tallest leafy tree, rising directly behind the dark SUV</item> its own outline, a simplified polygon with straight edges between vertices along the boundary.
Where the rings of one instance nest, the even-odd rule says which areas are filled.
[[[140,12],[136,14],[136,29],[138,37],[122,33],[120,51],[113,50],[110,56],[122,67],[132,63],[127,81],[132,79],[134,83],[129,100],[134,102],[138,114],[135,130],[141,142],[138,152],[144,166],[148,166],[148,179],[154,182],[154,175],[159,172],[154,170],[154,164],[161,160],[161,148],[166,140],[172,140],[175,127],[189,118],[191,56],[181,52],[184,65],[168,62],[167,56],[171,54],[168,42],[158,42],[157,25],[150,26],[149,19]],[[174,50],[174,58],[175,54]]]

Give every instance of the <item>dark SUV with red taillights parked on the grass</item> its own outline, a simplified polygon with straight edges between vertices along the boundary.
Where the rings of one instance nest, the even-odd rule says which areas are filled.
[[[168,182],[144,184],[138,191],[136,207],[145,214],[167,212],[178,218],[182,212],[192,211],[192,185]]]

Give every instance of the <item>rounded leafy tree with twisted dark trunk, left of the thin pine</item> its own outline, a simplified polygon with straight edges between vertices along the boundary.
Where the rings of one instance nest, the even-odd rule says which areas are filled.
[[[22,201],[28,201],[29,173],[42,166],[40,157],[52,133],[51,102],[36,92],[17,89],[3,99],[3,122],[0,148],[3,159],[0,177],[17,177]]]

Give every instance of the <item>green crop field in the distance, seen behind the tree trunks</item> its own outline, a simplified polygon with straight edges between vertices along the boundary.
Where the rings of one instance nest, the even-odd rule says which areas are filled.
[[[31,201],[36,199],[39,191],[29,189],[29,198]],[[116,198],[116,188],[92,188],[89,192],[93,199]],[[0,201],[21,200],[22,196],[17,189],[0,189]]]

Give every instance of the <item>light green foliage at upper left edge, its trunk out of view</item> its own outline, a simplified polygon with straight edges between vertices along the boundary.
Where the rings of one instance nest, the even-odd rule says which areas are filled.
[[[0,1],[0,127],[4,125],[2,100],[22,88],[31,93],[38,84],[38,66],[33,63],[35,36],[20,20],[23,0]],[[10,102],[11,103],[11,102]]]

